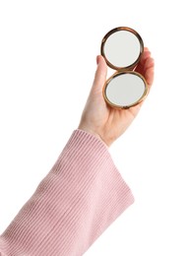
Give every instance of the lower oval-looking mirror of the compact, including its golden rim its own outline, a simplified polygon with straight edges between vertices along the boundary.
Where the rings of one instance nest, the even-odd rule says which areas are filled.
[[[147,96],[147,91],[146,81],[139,73],[125,71],[107,80],[103,96],[115,108],[128,108],[141,102]]]

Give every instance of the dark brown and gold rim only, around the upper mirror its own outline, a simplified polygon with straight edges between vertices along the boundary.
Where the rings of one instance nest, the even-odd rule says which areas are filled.
[[[110,62],[107,60],[107,58],[106,58],[106,56],[105,56],[105,53],[104,53],[104,44],[105,44],[107,38],[108,38],[112,33],[114,33],[114,32],[119,32],[119,31],[127,31],[127,32],[132,32],[132,33],[134,33],[134,34],[137,36],[137,38],[139,39],[139,42],[140,42],[140,54],[139,54],[139,57],[137,58],[137,60],[136,60],[133,64],[131,64],[131,65],[127,66],[127,67],[121,67],[121,68],[120,68],[120,67],[116,67],[116,66],[114,66],[112,63],[110,63]],[[135,30],[133,30],[133,29],[131,29],[131,28],[128,28],[128,27],[119,27],[119,28],[115,28],[115,29],[111,30],[110,32],[107,32],[107,33],[104,35],[104,37],[102,38],[101,46],[100,46],[100,52],[101,52],[101,55],[103,56],[103,58],[105,59],[105,62],[107,63],[107,65],[108,65],[110,68],[115,69],[115,70],[125,70],[125,69],[127,69],[127,70],[132,70],[132,69],[134,69],[135,66],[138,64],[138,62],[140,61],[140,58],[141,58],[141,55],[142,55],[143,51],[144,51],[144,42],[143,42],[143,39],[142,39],[141,35],[140,35],[138,32],[136,32]]]

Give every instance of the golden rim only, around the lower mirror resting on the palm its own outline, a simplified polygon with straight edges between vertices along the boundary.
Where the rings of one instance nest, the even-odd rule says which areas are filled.
[[[136,102],[134,102],[134,103],[132,103],[132,104],[130,104],[130,105],[121,105],[121,106],[120,106],[120,105],[116,105],[116,104],[112,103],[112,102],[108,99],[108,97],[106,96],[106,88],[108,87],[108,84],[110,83],[111,80],[113,80],[113,79],[115,79],[117,76],[120,76],[120,75],[123,75],[123,74],[133,74],[133,75],[136,75],[136,76],[140,77],[140,78],[143,80],[144,84],[145,84],[145,91],[144,91],[143,96],[141,96]],[[127,108],[129,108],[129,107],[132,107],[132,106],[135,106],[135,105],[141,103],[141,102],[146,98],[146,96],[148,95],[148,92],[149,92],[149,87],[148,87],[148,84],[147,84],[145,78],[144,78],[140,73],[137,73],[137,72],[134,72],[134,71],[128,71],[128,70],[127,70],[127,71],[122,71],[122,72],[119,72],[119,71],[118,71],[118,72],[115,72],[115,73],[105,82],[105,84],[104,84],[104,86],[103,86],[103,90],[102,90],[103,97],[104,97],[106,103],[109,104],[110,106],[114,107],[114,108],[117,108],[117,109],[127,109]]]

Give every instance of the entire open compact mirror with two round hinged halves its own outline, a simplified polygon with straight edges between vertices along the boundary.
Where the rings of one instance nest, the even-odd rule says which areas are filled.
[[[147,96],[145,78],[133,70],[144,51],[140,34],[120,27],[107,32],[101,41],[101,55],[107,65],[116,70],[103,87],[105,101],[115,108],[128,108]]]

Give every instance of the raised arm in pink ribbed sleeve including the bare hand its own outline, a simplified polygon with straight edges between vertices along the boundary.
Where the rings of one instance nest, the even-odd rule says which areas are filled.
[[[136,68],[149,87],[154,62],[146,48]],[[83,255],[134,199],[108,147],[143,103],[126,110],[107,106],[101,90],[106,64],[97,57],[92,91],[79,128],[15,220],[0,236],[0,256]]]

